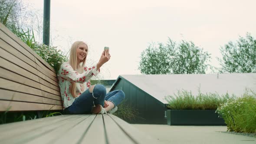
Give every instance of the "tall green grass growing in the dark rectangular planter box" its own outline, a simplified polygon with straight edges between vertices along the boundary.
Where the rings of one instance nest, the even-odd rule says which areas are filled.
[[[232,95],[218,95],[214,93],[202,94],[199,90],[197,96],[192,95],[186,90],[178,91],[177,95],[165,97],[168,102],[167,107],[178,110],[216,110],[220,104],[225,103],[228,99],[234,99]]]

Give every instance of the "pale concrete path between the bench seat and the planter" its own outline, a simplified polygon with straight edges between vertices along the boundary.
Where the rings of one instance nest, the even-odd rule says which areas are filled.
[[[159,144],[256,144],[256,137],[227,134],[226,126],[170,126],[132,124]]]

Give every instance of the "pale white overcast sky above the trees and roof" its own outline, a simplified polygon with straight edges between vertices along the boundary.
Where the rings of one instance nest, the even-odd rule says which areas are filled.
[[[43,15],[43,0],[25,1]],[[51,0],[50,33],[53,46],[65,52],[77,40],[88,43],[92,60],[87,65],[98,62],[109,46],[103,79],[140,74],[141,52],[167,37],[193,41],[218,66],[220,46],[246,32],[256,37],[255,6],[255,0]]]

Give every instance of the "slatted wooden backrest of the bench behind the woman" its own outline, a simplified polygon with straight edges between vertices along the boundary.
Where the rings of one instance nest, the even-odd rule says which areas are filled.
[[[0,111],[62,110],[54,69],[0,23]]]

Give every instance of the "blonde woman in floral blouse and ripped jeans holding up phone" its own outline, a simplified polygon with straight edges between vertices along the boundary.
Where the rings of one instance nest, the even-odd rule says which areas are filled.
[[[85,66],[88,46],[82,41],[72,44],[70,59],[58,71],[59,88],[65,114],[114,113],[125,98],[121,90],[106,94],[104,85],[91,85],[90,79],[100,72],[100,67],[110,59],[105,49],[96,65]]]

